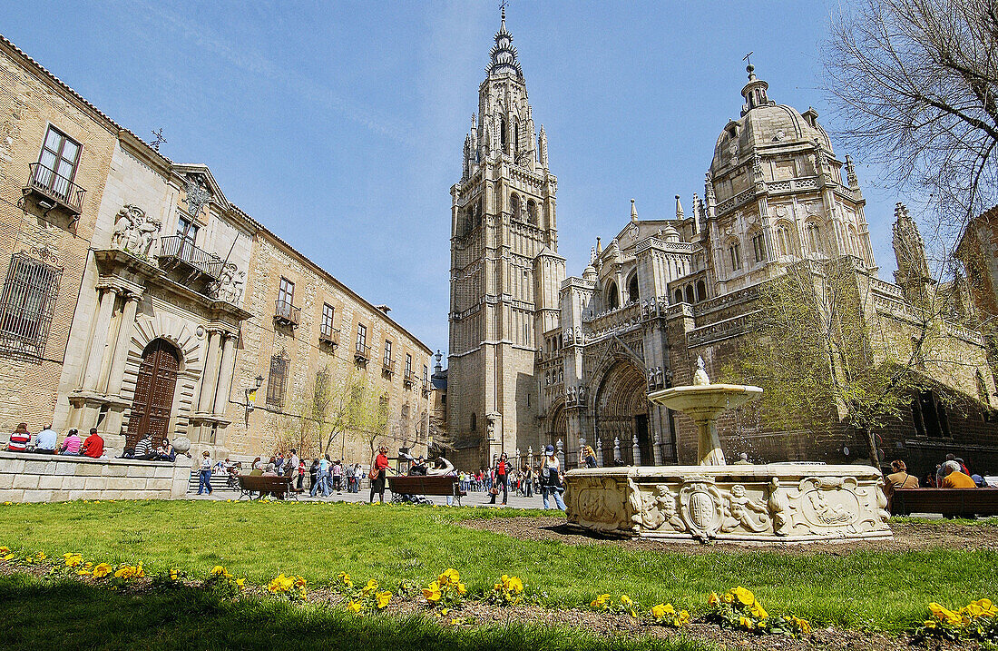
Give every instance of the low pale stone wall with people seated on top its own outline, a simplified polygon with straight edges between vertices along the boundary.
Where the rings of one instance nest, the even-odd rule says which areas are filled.
[[[180,499],[191,459],[176,463],[0,452],[0,502],[68,499]]]

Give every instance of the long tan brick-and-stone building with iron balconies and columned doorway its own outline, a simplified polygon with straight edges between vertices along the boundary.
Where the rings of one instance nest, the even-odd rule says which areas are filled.
[[[9,41],[0,62],[4,427],[96,426],[109,453],[150,434],[252,458],[315,420],[297,398],[321,372],[354,378],[384,416],[378,431],[337,432],[338,451],[425,444],[431,350],[387,308],[230,203],[209,168],[170,161]]]

